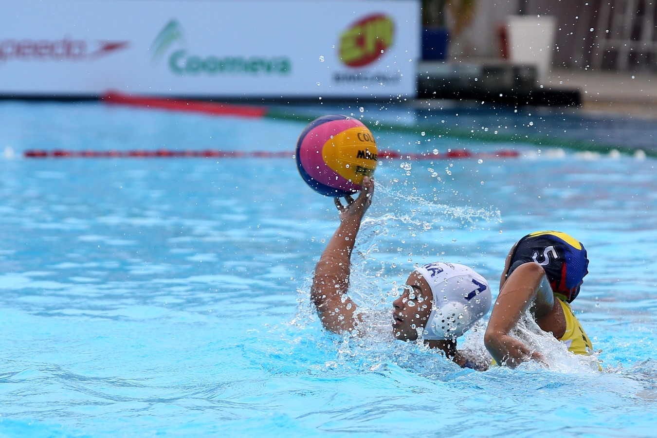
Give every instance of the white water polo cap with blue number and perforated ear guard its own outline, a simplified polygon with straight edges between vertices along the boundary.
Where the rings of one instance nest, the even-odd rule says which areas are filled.
[[[415,269],[434,295],[431,314],[424,326],[424,339],[455,340],[491,308],[491,290],[486,278],[455,263],[429,263]]]

